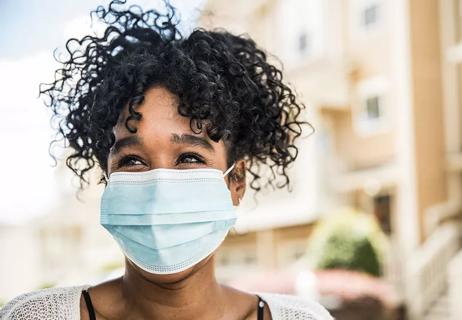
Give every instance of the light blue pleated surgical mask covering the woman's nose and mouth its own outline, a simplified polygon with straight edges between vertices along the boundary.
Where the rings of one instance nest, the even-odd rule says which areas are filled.
[[[114,172],[101,199],[101,224],[125,256],[155,274],[186,270],[209,256],[236,221],[217,169]]]

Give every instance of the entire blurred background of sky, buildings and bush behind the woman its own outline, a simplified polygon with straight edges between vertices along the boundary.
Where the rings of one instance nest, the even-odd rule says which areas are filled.
[[[129,1],[157,7],[159,1]],[[71,36],[107,2],[0,1],[0,305],[123,272],[98,222],[102,186],[48,155],[37,99]],[[337,319],[462,315],[462,1],[176,0],[182,30],[250,35],[282,66],[315,132],[292,192],[248,192],[220,280],[315,299]]]

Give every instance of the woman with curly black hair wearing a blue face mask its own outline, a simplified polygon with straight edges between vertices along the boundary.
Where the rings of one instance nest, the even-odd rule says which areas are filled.
[[[94,12],[103,37],[66,43],[41,88],[73,153],[66,164],[106,184],[101,224],[126,257],[122,277],[21,295],[2,319],[331,319],[302,298],[217,283],[214,251],[246,189],[285,187],[303,105],[255,43],[225,31],[177,30],[175,11]],[[56,140],[52,143],[55,143]]]

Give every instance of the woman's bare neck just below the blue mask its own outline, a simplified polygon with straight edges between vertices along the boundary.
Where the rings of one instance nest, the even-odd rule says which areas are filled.
[[[151,275],[127,261],[122,294],[126,310],[143,319],[218,319],[224,312],[213,257],[175,275]]]

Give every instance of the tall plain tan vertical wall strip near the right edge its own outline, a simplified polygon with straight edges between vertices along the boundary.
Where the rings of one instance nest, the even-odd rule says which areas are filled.
[[[410,0],[411,77],[420,239],[425,210],[447,198],[437,0]]]

